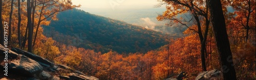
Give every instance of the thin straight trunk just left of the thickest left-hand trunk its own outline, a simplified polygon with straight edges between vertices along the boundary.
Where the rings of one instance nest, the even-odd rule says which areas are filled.
[[[20,0],[18,0],[18,45],[22,47],[22,40],[20,39],[20,21],[22,21],[22,17],[20,16]]]

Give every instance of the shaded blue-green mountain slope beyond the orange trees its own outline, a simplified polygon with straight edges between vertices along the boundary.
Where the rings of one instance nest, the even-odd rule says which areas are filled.
[[[68,45],[121,54],[146,52],[165,44],[160,32],[78,9],[61,12],[57,18],[44,26],[44,34]]]

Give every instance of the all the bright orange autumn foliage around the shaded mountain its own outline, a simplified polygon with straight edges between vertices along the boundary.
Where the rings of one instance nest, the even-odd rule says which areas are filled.
[[[251,9],[249,11],[250,17],[248,17],[247,19],[247,16],[249,14],[249,6],[247,6],[249,5],[248,1],[250,1]],[[234,1],[231,4],[231,6],[235,10],[234,13],[225,16],[227,18],[227,32],[229,35],[231,51],[234,57],[234,66],[237,71],[238,79],[255,79],[255,1],[248,1]],[[3,9],[4,19],[8,18],[9,14],[7,8],[10,4],[7,4],[7,2],[8,1],[6,0],[4,2],[4,7],[6,7]],[[42,1],[38,2],[42,3]],[[203,1],[196,2],[194,2],[194,4],[199,7],[199,9],[205,10],[204,6],[201,6],[201,4],[204,3]],[[183,14],[188,11],[187,7],[174,3],[168,4],[171,6],[167,6],[167,10],[163,13],[163,15],[158,16],[159,20],[163,20],[166,17],[178,18],[177,13],[180,12],[180,14]],[[227,5],[227,3],[225,4]],[[23,2],[22,5],[25,6],[26,3]],[[42,6],[37,7],[39,9]],[[75,6],[67,5],[65,6],[65,9],[70,9],[71,7],[73,8]],[[22,8],[22,37],[24,37],[25,35],[27,24],[26,14],[24,14],[26,13],[25,9],[26,8]],[[36,13],[39,13],[39,11],[40,10],[37,10]],[[51,13],[51,11],[49,10],[44,11],[45,12],[43,15],[48,15],[49,13]],[[14,7],[13,14],[17,14],[16,12],[17,9]],[[233,14],[236,14],[236,16],[234,16]],[[15,18],[17,18],[17,16],[13,16],[13,33],[17,33],[17,31],[15,30],[17,29],[17,24],[15,24],[17,23],[17,19]],[[46,17],[41,16],[41,18]],[[52,18],[57,19],[56,14],[54,14]],[[184,18],[180,17],[180,19]],[[36,18],[35,22],[38,21],[39,19]],[[41,21],[40,27],[38,28],[37,32],[38,34],[35,41],[33,53],[49,59],[54,63],[66,64],[88,75],[94,75],[100,79],[164,79],[168,75],[177,75],[181,71],[185,71],[188,73],[188,76],[186,77],[187,79],[195,79],[198,73],[201,72],[200,40],[198,35],[194,32],[191,32],[189,29],[184,32],[188,36],[175,40],[170,40],[170,43],[168,45],[164,45],[158,50],[148,51],[146,54],[137,53],[120,55],[117,52],[113,51],[101,54],[101,52],[95,52],[94,50],[78,48],[75,46],[58,43],[52,38],[47,38],[44,34],[42,34],[43,29],[41,28],[41,25],[48,25],[49,23],[50,22],[46,19]],[[249,39],[246,42],[244,40],[244,36],[246,35],[246,28],[244,26],[247,23],[250,29]],[[204,29],[204,27],[205,26],[202,25],[202,29]],[[196,25],[191,25],[189,26],[189,28],[197,30]],[[34,33],[35,31],[36,29],[34,30]],[[211,29],[209,29],[208,34],[212,35],[211,32]],[[18,41],[15,40],[15,38],[17,38],[17,35],[12,34],[12,38],[13,39],[12,41],[10,41],[10,45],[13,47],[18,47]],[[152,42],[157,41],[160,40],[154,39]],[[144,44],[148,43],[145,42]],[[140,47],[138,46],[135,47],[137,47],[138,50],[140,49]],[[217,54],[214,37],[212,36],[207,38],[206,54],[208,56],[206,58],[207,69],[220,70],[219,56]]]

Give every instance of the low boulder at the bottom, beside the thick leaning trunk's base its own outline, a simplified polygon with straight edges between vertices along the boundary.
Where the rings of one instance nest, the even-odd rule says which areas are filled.
[[[215,80],[220,80],[222,79],[222,72],[214,69],[211,71],[203,71],[198,74],[196,77],[196,80],[210,80],[210,79],[215,79]]]

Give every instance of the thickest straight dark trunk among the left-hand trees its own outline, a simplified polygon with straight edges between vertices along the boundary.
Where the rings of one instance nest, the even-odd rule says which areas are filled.
[[[32,0],[33,2],[33,0]],[[28,52],[32,52],[32,37],[33,37],[33,28],[32,28],[32,21],[31,21],[31,2],[27,0],[27,17],[28,17]]]

